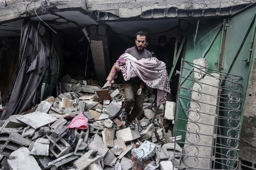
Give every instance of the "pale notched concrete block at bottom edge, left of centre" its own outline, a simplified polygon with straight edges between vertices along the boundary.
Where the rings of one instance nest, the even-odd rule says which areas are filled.
[[[96,149],[89,150],[82,157],[77,159],[74,162],[74,166],[78,168],[78,170],[86,169],[91,163],[103,158],[102,153],[98,152]]]

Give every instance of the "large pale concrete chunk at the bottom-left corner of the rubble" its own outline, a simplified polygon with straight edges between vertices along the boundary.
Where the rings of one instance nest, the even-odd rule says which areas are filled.
[[[35,158],[29,155],[29,150],[23,147],[11,153],[10,158],[7,160],[10,169],[33,169],[41,170]]]

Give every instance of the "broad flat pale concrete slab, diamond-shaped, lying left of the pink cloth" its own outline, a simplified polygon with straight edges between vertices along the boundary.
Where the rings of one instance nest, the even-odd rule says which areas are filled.
[[[50,116],[47,113],[37,111],[16,118],[35,129],[53,123],[57,120],[57,118]]]

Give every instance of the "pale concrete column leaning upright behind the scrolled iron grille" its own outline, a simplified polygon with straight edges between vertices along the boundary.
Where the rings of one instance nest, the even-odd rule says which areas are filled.
[[[212,156],[217,122],[217,107],[219,79],[204,76],[195,82],[190,103],[191,112],[188,115],[187,133],[183,153],[188,156],[184,163],[193,169],[212,168]],[[205,84],[203,84],[205,83]],[[202,102],[202,103],[201,103]],[[197,159],[195,158],[197,156]],[[204,158],[202,158],[204,157]]]

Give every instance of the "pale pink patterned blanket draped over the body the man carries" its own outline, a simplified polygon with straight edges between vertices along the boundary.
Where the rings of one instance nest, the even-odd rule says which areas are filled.
[[[157,89],[157,106],[166,103],[170,86],[164,62],[155,57],[137,60],[128,53],[122,54],[118,61],[122,63],[119,66],[125,80],[138,76],[149,87]]]

